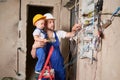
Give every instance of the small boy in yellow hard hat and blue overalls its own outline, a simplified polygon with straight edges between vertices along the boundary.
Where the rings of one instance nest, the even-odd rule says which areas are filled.
[[[41,14],[36,14],[33,17],[33,25],[36,27],[36,29],[33,32],[33,37],[35,42],[39,41],[43,41],[43,42],[47,42],[46,38],[46,33],[44,32],[44,27],[45,27],[45,16],[41,15]],[[43,68],[43,64],[45,62],[45,51],[46,51],[46,47],[42,47],[42,48],[37,48],[36,50],[36,56],[38,58],[38,61],[36,63],[35,66],[35,73],[39,73],[42,68]]]

